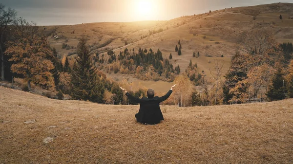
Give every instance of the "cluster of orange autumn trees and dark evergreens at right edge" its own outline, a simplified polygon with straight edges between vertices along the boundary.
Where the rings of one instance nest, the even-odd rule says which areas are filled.
[[[244,32],[238,45],[222,88],[225,103],[244,103],[261,91],[270,100],[284,99],[287,92],[292,97],[292,43],[277,44],[263,30]]]

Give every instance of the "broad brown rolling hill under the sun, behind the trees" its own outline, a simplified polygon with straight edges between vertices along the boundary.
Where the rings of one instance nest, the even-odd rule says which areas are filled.
[[[280,15],[282,19],[279,18]],[[173,59],[170,62],[173,66],[179,65],[184,71],[191,59],[193,63],[197,63],[198,70],[204,70],[207,79],[212,80],[209,68],[212,69],[213,60],[224,63],[223,72],[226,72],[235,52],[235,42],[243,31],[270,30],[279,43],[293,42],[292,18],[293,3],[272,3],[219,9],[167,21],[100,22],[44,26],[44,29],[50,35],[48,41],[51,47],[57,49],[60,57],[68,55],[71,60],[76,57],[74,52],[78,38],[85,36],[92,54],[103,54],[109,49],[116,54],[125,48],[136,52],[139,47],[154,51],[160,49],[164,58],[172,53]],[[58,36],[58,39],[54,36]],[[181,56],[175,52],[179,39],[182,44]],[[67,49],[62,49],[63,43],[68,45]],[[193,52],[199,52],[200,56],[192,57]],[[125,75],[119,73],[108,76],[118,81],[125,78]],[[126,78],[129,82],[138,83],[131,75]],[[146,82],[142,81],[142,84]]]

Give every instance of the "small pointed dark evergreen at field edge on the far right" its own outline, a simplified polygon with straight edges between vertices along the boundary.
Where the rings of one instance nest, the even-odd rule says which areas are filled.
[[[277,72],[272,78],[272,85],[269,86],[269,91],[267,93],[267,96],[271,101],[285,99],[286,84],[284,84],[283,87],[283,82],[285,82],[283,75],[281,67],[278,67]]]

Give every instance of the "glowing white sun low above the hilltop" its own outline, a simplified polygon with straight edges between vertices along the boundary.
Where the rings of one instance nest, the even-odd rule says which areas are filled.
[[[155,0],[135,0],[135,18],[138,20],[151,20],[156,15]]]

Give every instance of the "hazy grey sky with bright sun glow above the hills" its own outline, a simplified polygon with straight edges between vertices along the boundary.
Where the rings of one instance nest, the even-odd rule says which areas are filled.
[[[38,25],[103,21],[169,20],[229,7],[252,6],[278,0],[0,0],[18,17]],[[283,0],[291,2],[293,0]]]

